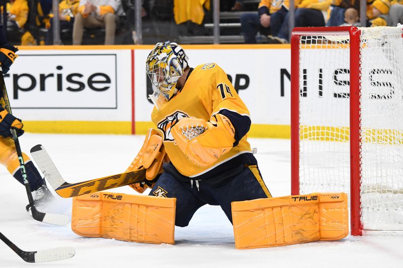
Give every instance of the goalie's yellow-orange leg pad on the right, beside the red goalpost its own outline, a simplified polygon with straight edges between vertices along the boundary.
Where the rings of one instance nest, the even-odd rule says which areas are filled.
[[[315,193],[232,202],[235,247],[339,240],[349,234],[345,193]]]

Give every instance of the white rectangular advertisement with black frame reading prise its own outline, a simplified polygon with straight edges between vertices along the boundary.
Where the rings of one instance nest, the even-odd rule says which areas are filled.
[[[12,80],[9,97],[15,108],[117,108],[116,54],[24,54],[20,59],[25,64],[6,79]],[[32,68],[38,60],[41,67]]]

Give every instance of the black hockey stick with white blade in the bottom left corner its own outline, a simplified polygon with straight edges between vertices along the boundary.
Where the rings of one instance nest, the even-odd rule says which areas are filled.
[[[56,247],[38,251],[24,251],[0,232],[0,239],[14,250],[26,262],[44,262],[71,258],[76,254],[73,247]]]

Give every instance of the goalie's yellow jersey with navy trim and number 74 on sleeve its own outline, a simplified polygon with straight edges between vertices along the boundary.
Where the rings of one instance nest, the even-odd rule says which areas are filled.
[[[232,149],[212,166],[201,167],[191,162],[180,150],[171,129],[182,118],[194,117],[209,121],[216,114],[222,114],[231,121],[235,128],[235,142]],[[154,107],[152,120],[163,134],[171,163],[184,176],[202,179],[207,174],[218,174],[218,171],[229,170],[239,164],[256,164],[246,140],[250,128],[249,111],[227,74],[216,63],[190,68],[181,90],[159,110]]]

